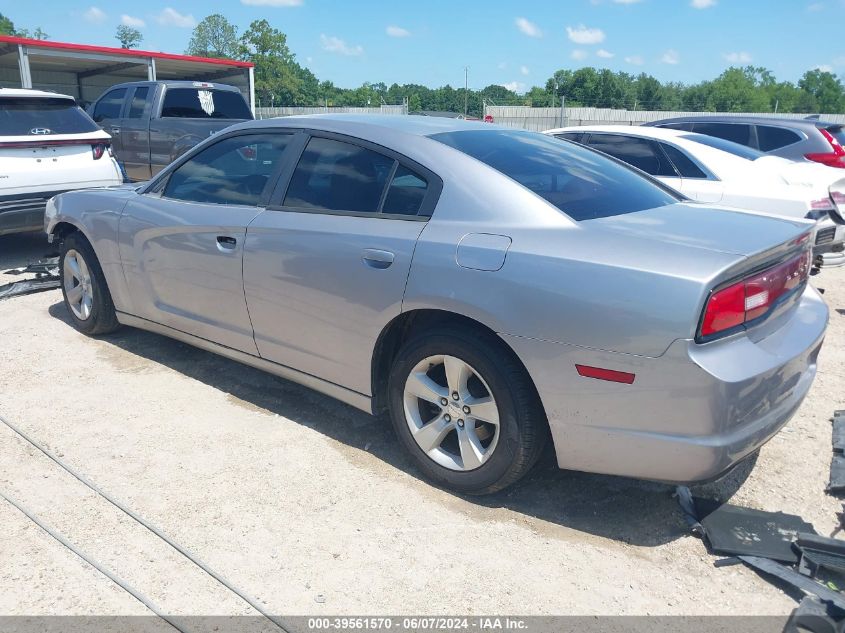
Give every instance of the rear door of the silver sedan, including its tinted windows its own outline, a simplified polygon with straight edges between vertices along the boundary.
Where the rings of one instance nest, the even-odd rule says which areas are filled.
[[[373,349],[401,311],[439,179],[364,141],[299,139],[274,204],[247,230],[255,342],[262,358],[370,395]]]

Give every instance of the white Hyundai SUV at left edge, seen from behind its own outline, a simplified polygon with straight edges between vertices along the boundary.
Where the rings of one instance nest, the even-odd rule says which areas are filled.
[[[57,193],[122,182],[111,137],[73,97],[0,88],[0,235],[43,229]]]

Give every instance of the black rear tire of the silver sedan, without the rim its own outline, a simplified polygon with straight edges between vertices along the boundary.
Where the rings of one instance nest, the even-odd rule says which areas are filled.
[[[438,464],[420,448],[405,417],[405,383],[418,363],[448,355],[468,363],[489,386],[499,413],[499,439],[489,459],[474,470]],[[495,335],[469,327],[441,327],[407,341],[388,381],[390,418],[405,450],[436,484],[456,492],[498,492],[523,477],[537,462],[549,435],[537,391],[513,352]]]

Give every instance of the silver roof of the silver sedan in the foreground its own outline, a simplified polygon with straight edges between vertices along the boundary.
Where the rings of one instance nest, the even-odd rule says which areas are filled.
[[[274,119],[259,119],[238,124],[237,127],[296,127],[316,128],[326,131],[346,132],[352,135],[365,132],[367,128],[411,134],[415,136],[431,136],[441,132],[458,132],[466,130],[507,130],[514,133],[524,132],[515,128],[506,128],[479,121],[465,121],[444,117],[428,117],[414,115],[390,114],[308,114],[301,116],[279,117]],[[234,127],[234,126],[233,126]]]

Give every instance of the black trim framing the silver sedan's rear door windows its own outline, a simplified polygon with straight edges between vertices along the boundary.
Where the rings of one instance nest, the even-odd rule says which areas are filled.
[[[286,169],[283,170],[280,174],[276,188],[270,196],[270,202],[266,206],[267,211],[280,211],[287,213],[317,213],[322,215],[381,218],[385,220],[405,220],[408,222],[428,222],[428,220],[431,218],[435,208],[437,207],[437,202],[440,199],[440,194],[443,191],[443,179],[427,167],[420,165],[418,162],[408,158],[404,154],[400,154],[395,150],[362,138],[358,138],[356,136],[349,136],[337,132],[328,132],[325,130],[315,130],[309,128],[297,129],[298,131],[303,133],[301,147],[299,151],[296,151],[296,148],[294,147],[290,148],[292,150],[292,156],[295,155],[295,160],[292,159],[286,165]],[[370,151],[381,154],[382,156],[393,159],[394,163],[393,167],[391,168],[390,178],[386,181],[384,190],[382,191],[381,199],[379,201],[379,208],[384,205],[384,201],[387,199],[387,194],[390,190],[390,184],[393,182],[393,176],[395,175],[396,170],[399,168],[399,165],[402,165],[403,167],[406,167],[411,171],[417,172],[421,177],[426,180],[428,184],[425,197],[423,198],[423,201],[420,204],[419,212],[416,215],[407,215],[403,213],[382,213],[380,211],[343,211],[329,209],[314,209],[311,207],[293,207],[283,204],[285,196],[287,195],[288,187],[290,186],[291,179],[293,178],[293,172],[299,164],[299,161],[302,158],[302,154],[305,151],[305,148],[308,146],[308,142],[312,138],[325,138],[341,143],[348,143],[349,145],[368,149]]]

